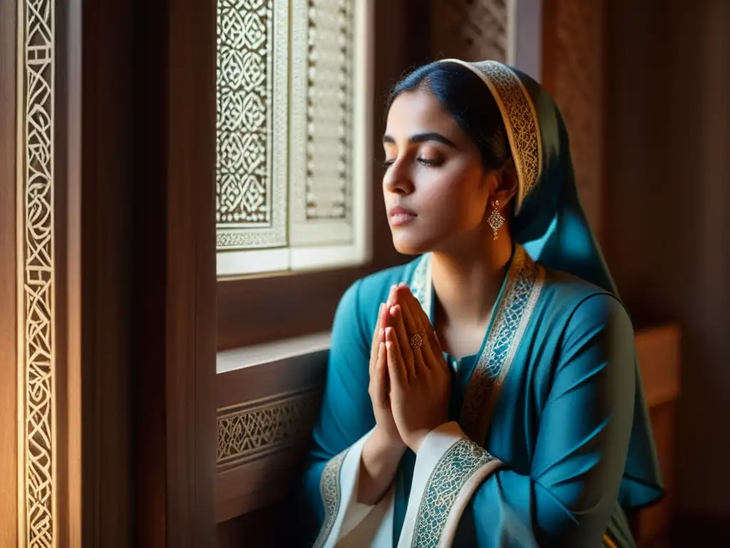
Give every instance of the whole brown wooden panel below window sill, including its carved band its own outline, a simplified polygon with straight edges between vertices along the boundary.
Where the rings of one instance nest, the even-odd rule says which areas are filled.
[[[218,522],[280,501],[291,489],[310,444],[327,354],[224,368],[216,376]],[[230,365],[237,358],[220,359]]]

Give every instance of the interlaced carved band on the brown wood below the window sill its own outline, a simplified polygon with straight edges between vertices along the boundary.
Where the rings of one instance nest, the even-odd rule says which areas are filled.
[[[319,392],[287,393],[218,410],[218,466],[255,460],[306,438]]]

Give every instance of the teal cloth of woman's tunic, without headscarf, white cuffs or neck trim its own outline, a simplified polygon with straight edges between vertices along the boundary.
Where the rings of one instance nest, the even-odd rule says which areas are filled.
[[[412,281],[419,260],[356,282],[340,302],[305,475],[315,529],[324,517],[324,465],[375,424],[368,365],[380,302],[391,285]],[[498,299],[503,307],[509,305],[504,292],[503,286]],[[472,497],[453,546],[600,546],[610,526],[615,544],[631,546],[618,505],[622,484],[625,490],[634,487],[624,477],[636,390],[629,316],[609,292],[550,270],[533,307],[520,340],[512,342],[511,367],[491,402],[484,446],[505,465]],[[501,351],[508,352],[509,341],[504,346]],[[464,397],[481,353],[447,356],[454,366],[450,419],[463,422]],[[396,474],[394,546],[414,464],[415,454],[407,451]]]

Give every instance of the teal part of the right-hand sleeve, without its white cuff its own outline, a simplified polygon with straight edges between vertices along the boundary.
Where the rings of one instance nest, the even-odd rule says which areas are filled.
[[[500,469],[470,503],[479,547],[600,546],[626,462],[634,406],[631,322],[588,297],[564,332],[529,475]]]

